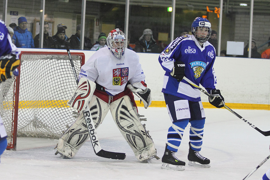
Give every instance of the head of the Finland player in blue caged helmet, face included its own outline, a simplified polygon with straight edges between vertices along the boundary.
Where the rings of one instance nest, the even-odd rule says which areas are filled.
[[[191,32],[200,43],[205,43],[211,36],[211,23],[205,18],[196,17]]]

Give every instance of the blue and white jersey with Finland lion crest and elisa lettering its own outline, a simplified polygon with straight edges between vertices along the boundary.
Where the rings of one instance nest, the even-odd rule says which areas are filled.
[[[214,47],[206,41],[203,47],[193,35],[184,35],[172,41],[161,54],[158,61],[166,71],[162,92],[178,96],[189,101],[201,101],[200,91],[185,80],[177,82],[170,73],[175,61],[185,64],[185,77],[196,85],[201,84],[208,92],[215,89],[216,76],[213,68],[216,53]]]

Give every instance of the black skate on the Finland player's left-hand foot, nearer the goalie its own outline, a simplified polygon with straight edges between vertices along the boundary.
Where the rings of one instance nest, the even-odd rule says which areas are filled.
[[[176,158],[176,156],[174,155],[175,152],[167,149],[167,146],[168,145],[166,144],[165,152],[161,159],[162,161],[161,169],[172,169],[172,170],[177,170],[177,171],[185,170],[186,163]],[[172,166],[170,167],[169,165],[174,165],[174,167]]]

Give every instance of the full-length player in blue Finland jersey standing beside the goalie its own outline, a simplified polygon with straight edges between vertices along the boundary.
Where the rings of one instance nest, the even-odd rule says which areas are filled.
[[[189,165],[210,167],[210,160],[200,155],[205,113],[200,91],[183,80],[187,77],[196,85],[201,84],[213,99],[209,102],[217,108],[224,106],[220,90],[216,89],[213,69],[216,57],[214,47],[208,43],[211,23],[197,17],[192,23],[192,35],[184,35],[172,41],[159,55],[159,63],[166,71],[162,92],[172,126],[168,130],[162,169],[184,170],[185,162],[176,156],[184,129],[190,122],[190,142],[187,159]],[[170,166],[174,165],[174,166]]]

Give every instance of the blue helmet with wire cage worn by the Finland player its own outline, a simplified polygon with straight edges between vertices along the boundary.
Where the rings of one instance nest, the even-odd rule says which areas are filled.
[[[196,31],[201,28],[208,29],[206,37],[196,35]],[[191,32],[199,42],[205,43],[211,36],[211,23],[206,18],[196,17],[192,22]]]

